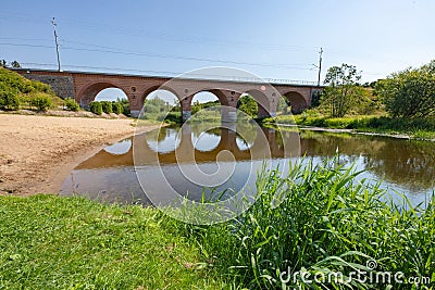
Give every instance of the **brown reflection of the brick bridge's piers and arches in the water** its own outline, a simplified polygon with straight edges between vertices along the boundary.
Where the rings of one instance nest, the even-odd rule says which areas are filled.
[[[136,135],[134,138],[133,147],[129,148],[125,154],[113,155],[104,150],[98,152],[91,159],[80,163],[77,169],[86,168],[102,168],[114,166],[147,166],[147,165],[171,165],[174,163],[183,162],[213,162],[217,159],[217,154],[227,150],[231,151],[237,161],[260,160],[263,157],[272,156],[274,159],[295,157],[299,156],[301,152],[299,134],[284,133],[281,136],[275,129],[258,128],[256,140],[250,149],[240,150],[237,146],[237,133],[234,129],[222,128],[221,141],[216,148],[211,151],[200,151],[194,148],[191,142],[191,127],[185,125],[183,131],[179,133],[178,152],[175,151],[157,153],[148,146],[148,139],[152,136],[149,133]],[[263,136],[263,137],[262,137]],[[151,138],[153,138],[152,136]],[[265,137],[265,138],[264,138]],[[133,138],[133,137],[132,137]],[[279,139],[282,141],[277,141]],[[285,142],[285,146],[283,146]],[[303,144],[302,144],[303,146]],[[133,150],[135,150],[135,162],[133,161]],[[271,150],[270,154],[269,151]],[[178,156],[178,160],[177,160]]]

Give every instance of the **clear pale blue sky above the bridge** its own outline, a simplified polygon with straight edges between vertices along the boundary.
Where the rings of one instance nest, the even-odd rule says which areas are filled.
[[[363,81],[435,59],[435,1],[3,1],[0,59],[63,70],[170,75],[232,66],[316,80],[349,63]],[[195,59],[195,60],[194,60]],[[208,61],[206,61],[208,60]],[[130,70],[130,71],[124,71]]]

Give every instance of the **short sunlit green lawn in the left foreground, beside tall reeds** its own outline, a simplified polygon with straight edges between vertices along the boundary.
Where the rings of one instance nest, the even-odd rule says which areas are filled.
[[[159,211],[0,197],[0,289],[221,289]]]

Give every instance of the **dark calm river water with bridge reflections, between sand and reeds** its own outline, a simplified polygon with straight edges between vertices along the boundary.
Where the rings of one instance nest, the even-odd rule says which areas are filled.
[[[360,178],[383,180],[382,187],[393,197],[402,192],[412,204],[431,199],[434,142],[310,130],[279,133],[249,124],[212,129],[203,125],[164,127],[122,140],[74,168],[60,194],[147,204],[138,171],[146,176],[140,180],[148,194],[159,194],[170,185],[176,192],[188,192],[192,200],[221,192],[231,196],[233,190],[254,188],[249,176],[260,171],[264,159],[272,165],[302,155],[321,162],[333,157],[337,149],[340,163],[365,169]]]

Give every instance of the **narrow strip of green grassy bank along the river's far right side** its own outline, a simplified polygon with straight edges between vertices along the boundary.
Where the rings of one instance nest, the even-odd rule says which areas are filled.
[[[326,117],[308,115],[282,115],[273,121],[266,118],[264,123],[295,124],[300,126],[315,126],[334,129],[355,129],[357,131],[406,134],[414,138],[435,138],[435,119],[433,118],[391,118],[387,116],[348,116]]]

